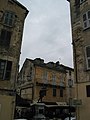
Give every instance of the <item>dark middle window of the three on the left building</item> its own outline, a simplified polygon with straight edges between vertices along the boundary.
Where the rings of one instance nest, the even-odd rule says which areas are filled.
[[[0,45],[9,47],[10,39],[11,39],[11,31],[2,29],[0,34]]]

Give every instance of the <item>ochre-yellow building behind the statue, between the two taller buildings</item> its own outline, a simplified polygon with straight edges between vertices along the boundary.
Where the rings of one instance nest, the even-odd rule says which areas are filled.
[[[66,73],[65,66],[59,62],[44,63],[41,58],[26,59],[19,73],[19,94],[32,103],[37,103],[40,91],[45,90],[42,102],[67,104]]]

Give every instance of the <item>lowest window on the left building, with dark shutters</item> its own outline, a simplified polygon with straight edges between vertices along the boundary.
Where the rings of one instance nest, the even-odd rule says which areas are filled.
[[[0,59],[0,79],[10,80],[12,62]]]

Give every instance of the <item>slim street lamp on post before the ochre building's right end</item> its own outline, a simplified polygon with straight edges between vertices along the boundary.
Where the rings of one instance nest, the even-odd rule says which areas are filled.
[[[72,86],[73,86],[73,81],[71,79],[68,80],[68,86],[69,86],[69,120],[71,120],[71,100],[72,100]]]

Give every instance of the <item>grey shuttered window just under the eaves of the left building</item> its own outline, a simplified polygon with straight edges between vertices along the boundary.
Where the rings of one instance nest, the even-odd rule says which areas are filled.
[[[15,20],[15,14],[13,12],[7,11],[4,15],[4,24],[12,27]]]

